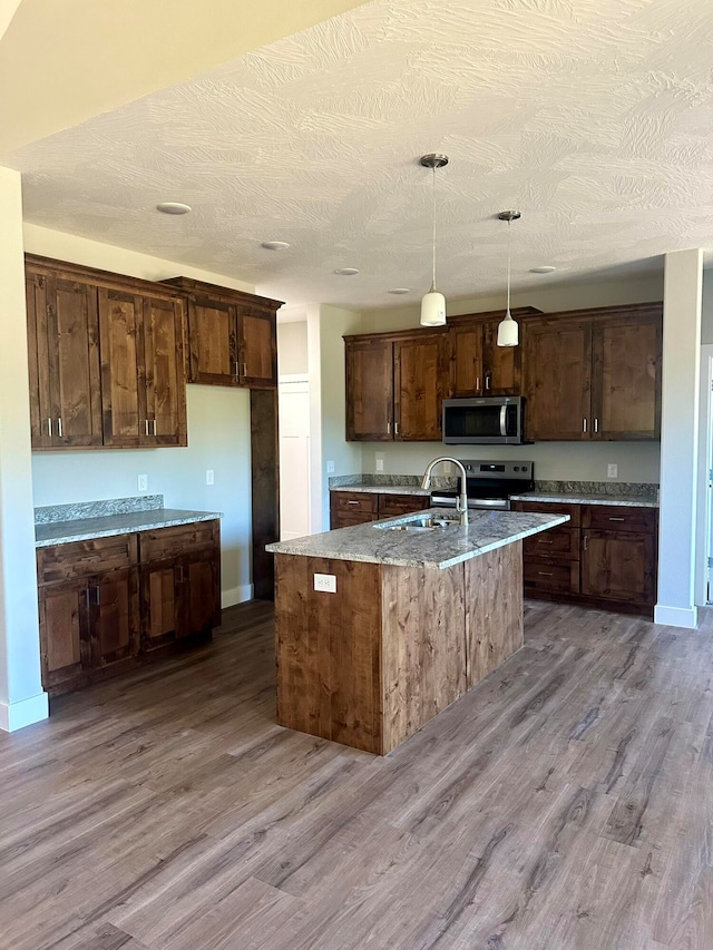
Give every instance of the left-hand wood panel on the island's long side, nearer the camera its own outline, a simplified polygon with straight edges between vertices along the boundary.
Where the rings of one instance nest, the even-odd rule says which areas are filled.
[[[463,565],[384,565],[383,754],[466,689]]]

